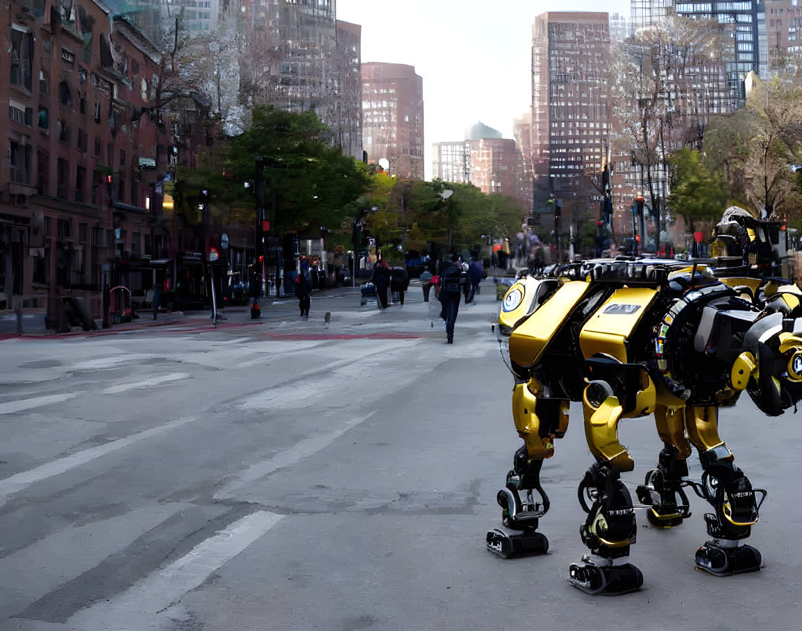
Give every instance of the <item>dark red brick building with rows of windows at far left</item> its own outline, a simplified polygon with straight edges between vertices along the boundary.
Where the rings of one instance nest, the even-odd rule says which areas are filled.
[[[0,34],[0,308],[24,296],[53,320],[74,297],[99,317],[119,263],[168,253],[156,51],[92,0],[11,2]]]

